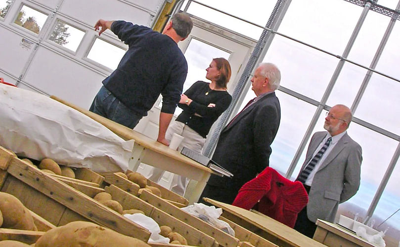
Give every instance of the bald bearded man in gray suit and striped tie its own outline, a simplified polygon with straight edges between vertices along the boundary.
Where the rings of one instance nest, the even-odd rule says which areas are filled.
[[[324,129],[310,141],[306,160],[296,180],[303,182],[309,203],[298,214],[294,229],[312,238],[316,219],[333,222],[339,203],[354,196],[360,184],[361,146],[347,135],[352,112],[333,106]]]

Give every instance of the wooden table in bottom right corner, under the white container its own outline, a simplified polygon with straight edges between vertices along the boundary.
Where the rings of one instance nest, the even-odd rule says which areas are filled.
[[[368,241],[358,237],[354,232],[325,220],[316,221],[313,239],[329,247],[375,247]]]

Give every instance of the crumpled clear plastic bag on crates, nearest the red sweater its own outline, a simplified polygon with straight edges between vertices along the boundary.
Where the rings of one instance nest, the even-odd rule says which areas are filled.
[[[204,220],[233,237],[235,236],[235,231],[232,227],[225,221],[218,219],[222,214],[222,209],[217,209],[214,206],[207,206],[202,203],[194,203],[193,205],[181,208],[181,210]]]

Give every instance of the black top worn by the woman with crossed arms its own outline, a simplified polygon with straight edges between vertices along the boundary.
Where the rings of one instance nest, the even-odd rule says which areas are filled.
[[[211,90],[209,85],[210,83],[197,81],[184,93],[192,102],[189,106],[178,104],[183,112],[176,120],[186,124],[203,138],[207,137],[213,123],[232,101],[228,92]],[[210,104],[215,104],[215,107],[208,107]]]

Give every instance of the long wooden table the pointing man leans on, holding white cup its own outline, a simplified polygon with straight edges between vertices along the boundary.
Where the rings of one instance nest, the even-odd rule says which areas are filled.
[[[110,129],[122,139],[126,141],[134,140],[132,157],[128,165],[129,170],[136,171],[140,163],[144,163],[198,181],[197,186],[194,188],[193,193],[188,199],[189,204],[198,201],[210,175],[212,173],[218,175],[218,173],[192,159],[187,158],[186,156],[183,156],[178,151],[172,150],[168,146],[158,141],[154,141],[124,125],[79,106],[75,106],[55,96],[51,96],[50,98],[84,113]]]

